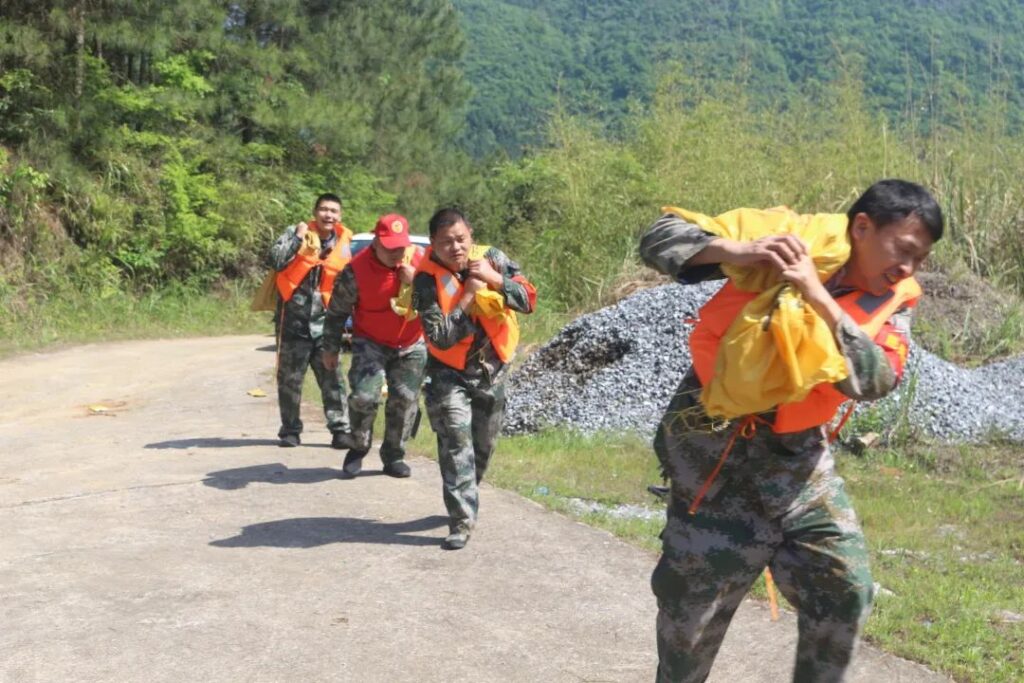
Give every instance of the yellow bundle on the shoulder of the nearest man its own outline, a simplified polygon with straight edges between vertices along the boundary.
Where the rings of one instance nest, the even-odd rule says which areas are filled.
[[[776,207],[736,209],[713,218],[678,207],[663,211],[736,242],[795,234],[807,245],[822,282],[850,256],[848,219],[842,214],[802,215]],[[827,324],[773,268],[725,263],[721,268],[737,289],[758,294],[743,306],[719,344],[714,377],[700,394],[708,415],[735,418],[763,413],[803,400],[817,384],[848,376]]]

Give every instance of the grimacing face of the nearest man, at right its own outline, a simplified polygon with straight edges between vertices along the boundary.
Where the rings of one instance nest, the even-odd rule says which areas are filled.
[[[853,256],[847,280],[876,296],[912,275],[932,250],[932,236],[921,218],[909,215],[879,227],[859,213],[850,226]]]

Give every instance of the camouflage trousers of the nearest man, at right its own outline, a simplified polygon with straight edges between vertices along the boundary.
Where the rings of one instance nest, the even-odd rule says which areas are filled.
[[[689,387],[692,388],[692,387]],[[686,380],[655,437],[672,479],[657,598],[658,681],[703,681],[740,601],[766,566],[797,608],[794,680],[841,681],[870,609],[867,549],[820,428],[735,440],[695,514],[688,507],[736,424],[713,425]]]

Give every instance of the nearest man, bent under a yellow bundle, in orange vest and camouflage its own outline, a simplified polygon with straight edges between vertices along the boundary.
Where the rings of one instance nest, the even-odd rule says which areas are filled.
[[[643,236],[644,261],[680,283],[728,278],[700,310],[693,368],[654,438],[671,479],[651,577],[659,681],[707,678],[766,566],[799,611],[794,680],[842,680],[873,584],[825,428],[844,400],[899,381],[921,295],[911,275],[942,229],[925,188],[882,180],[845,217],[672,209]]]

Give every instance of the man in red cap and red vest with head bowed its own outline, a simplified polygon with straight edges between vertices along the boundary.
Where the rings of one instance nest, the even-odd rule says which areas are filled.
[[[342,466],[344,478],[362,469],[370,451],[374,418],[387,380],[384,404],[384,473],[408,477],[406,440],[419,409],[427,362],[423,329],[412,306],[412,283],[423,250],[409,239],[409,221],[396,213],[382,216],[374,241],[356,254],[335,280],[324,324],[324,366],[338,367],[342,328],[352,315],[352,366],[348,416],[351,442]]]

